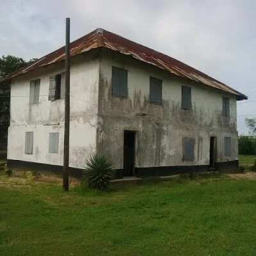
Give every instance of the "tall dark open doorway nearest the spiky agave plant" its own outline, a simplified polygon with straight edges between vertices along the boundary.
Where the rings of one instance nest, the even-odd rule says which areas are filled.
[[[124,131],[124,176],[135,175],[135,134],[134,131]]]

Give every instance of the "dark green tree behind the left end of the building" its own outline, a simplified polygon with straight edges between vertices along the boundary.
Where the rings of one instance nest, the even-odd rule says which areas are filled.
[[[19,68],[29,65],[36,60],[32,59],[26,62],[22,58],[11,55],[0,58],[0,141],[6,143],[10,123],[10,82],[2,80],[9,74],[19,70]]]

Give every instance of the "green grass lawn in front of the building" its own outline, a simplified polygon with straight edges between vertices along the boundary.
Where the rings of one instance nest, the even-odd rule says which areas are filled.
[[[0,254],[256,255],[256,181],[113,185],[109,193],[0,176]]]

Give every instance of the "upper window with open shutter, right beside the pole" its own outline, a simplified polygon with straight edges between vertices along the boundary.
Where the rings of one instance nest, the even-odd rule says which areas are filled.
[[[65,73],[50,77],[49,100],[65,98]]]

